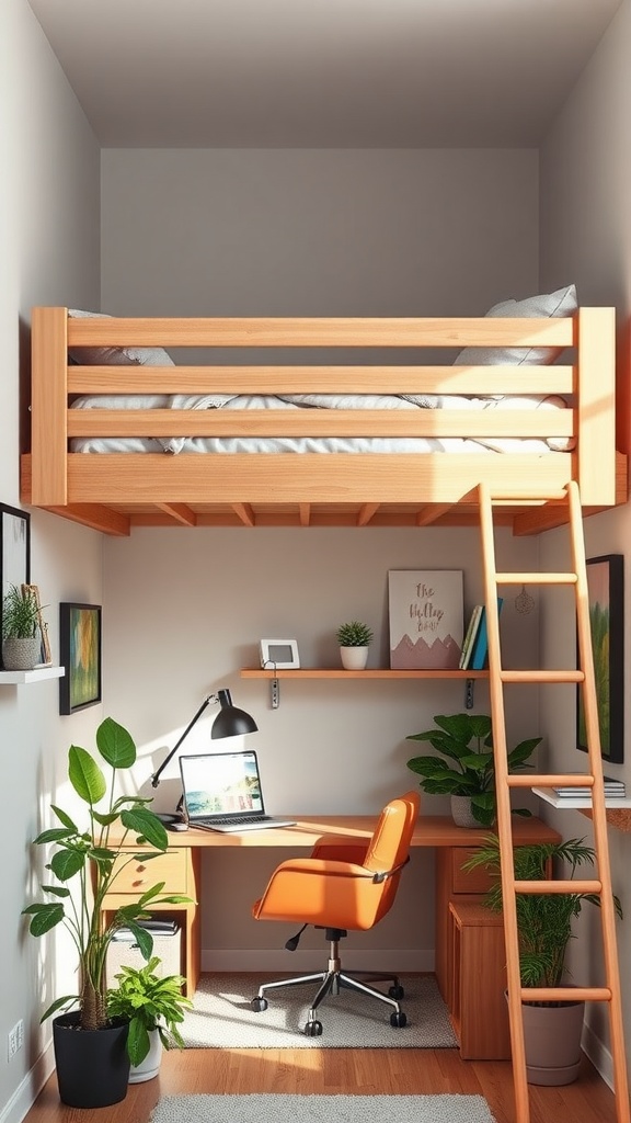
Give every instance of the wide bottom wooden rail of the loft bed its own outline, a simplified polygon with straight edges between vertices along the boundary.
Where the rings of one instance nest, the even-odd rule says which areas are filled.
[[[448,463],[446,463],[446,460]],[[341,463],[340,463],[341,462]],[[24,464],[24,462],[22,462]],[[570,457],[490,453],[445,457],[381,456],[305,453],[252,456],[246,453],[208,457],[145,453],[84,456],[70,454],[68,499],[72,503],[458,503],[475,502],[472,480],[490,487],[510,482],[525,500],[546,497],[550,487],[561,490],[570,477]],[[25,467],[25,486],[28,476]]]

